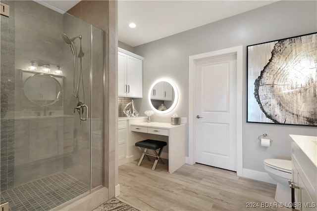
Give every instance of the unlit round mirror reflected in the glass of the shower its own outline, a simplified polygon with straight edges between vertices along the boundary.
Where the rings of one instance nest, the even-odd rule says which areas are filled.
[[[32,103],[49,106],[61,99],[62,88],[50,75],[37,73],[27,78],[23,84],[24,95]]]

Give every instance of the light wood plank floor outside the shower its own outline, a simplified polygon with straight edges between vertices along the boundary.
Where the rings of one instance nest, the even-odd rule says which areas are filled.
[[[184,165],[170,174],[166,160],[153,171],[151,160],[144,158],[140,167],[137,161],[119,167],[117,198],[141,211],[291,211],[267,206],[276,203],[273,184],[201,164]],[[259,207],[247,208],[247,203]]]

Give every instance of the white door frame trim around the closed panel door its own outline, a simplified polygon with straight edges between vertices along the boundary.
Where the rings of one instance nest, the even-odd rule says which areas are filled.
[[[237,55],[237,116],[236,116],[236,137],[237,137],[237,175],[243,176],[243,45],[225,48],[189,56],[189,79],[188,79],[188,161],[190,165],[195,162],[195,143],[196,143],[196,121],[195,121],[195,94],[196,94],[196,61],[208,58],[214,58],[224,55]]]

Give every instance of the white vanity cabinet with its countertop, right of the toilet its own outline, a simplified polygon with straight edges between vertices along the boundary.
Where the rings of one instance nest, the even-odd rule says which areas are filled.
[[[317,211],[317,137],[290,135],[292,138],[292,182],[295,209]]]

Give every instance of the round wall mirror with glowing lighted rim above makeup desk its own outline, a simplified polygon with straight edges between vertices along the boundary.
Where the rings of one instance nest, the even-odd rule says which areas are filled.
[[[178,100],[176,85],[166,79],[154,82],[149,90],[149,103],[151,108],[160,114],[172,111]]]

